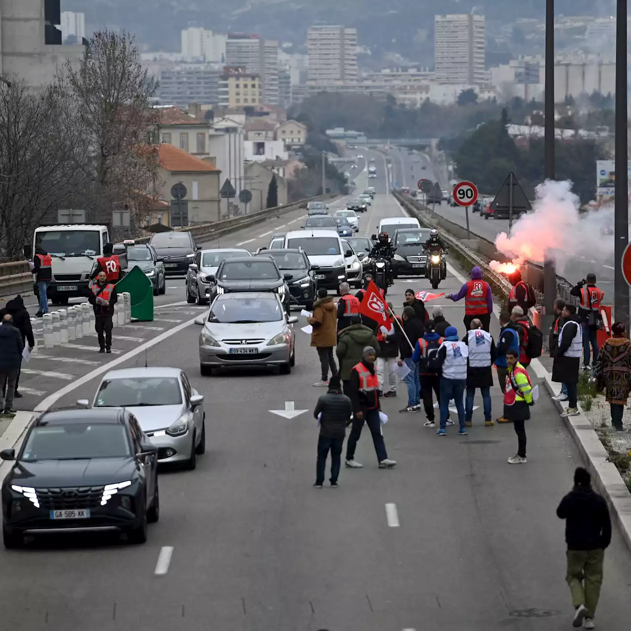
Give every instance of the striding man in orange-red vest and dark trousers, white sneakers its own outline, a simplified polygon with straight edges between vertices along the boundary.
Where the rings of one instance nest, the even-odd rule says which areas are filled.
[[[396,465],[394,460],[388,458],[381,430],[380,404],[377,394],[379,382],[375,373],[376,358],[377,351],[372,346],[366,346],[363,349],[362,360],[351,369],[348,396],[353,404],[353,425],[348,442],[346,442],[345,461],[346,466],[351,469],[361,469],[363,466],[355,460],[355,447],[362,435],[364,423],[368,425],[372,434],[379,468],[390,469]]]

